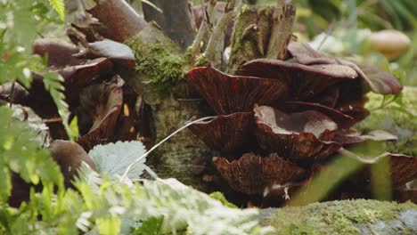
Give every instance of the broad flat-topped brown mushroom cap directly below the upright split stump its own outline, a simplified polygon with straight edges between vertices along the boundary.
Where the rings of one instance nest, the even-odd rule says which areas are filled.
[[[241,76],[274,78],[288,85],[290,98],[307,101],[327,87],[347,79],[355,79],[357,73],[345,65],[320,64],[307,66],[295,61],[257,59],[249,61],[238,71]]]

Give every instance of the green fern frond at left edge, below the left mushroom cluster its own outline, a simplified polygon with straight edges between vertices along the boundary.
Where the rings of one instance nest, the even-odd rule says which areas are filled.
[[[59,167],[45,150],[39,150],[39,142],[27,122],[12,118],[12,109],[0,107],[0,204],[7,201],[11,192],[12,172],[20,174],[25,182],[38,184],[45,188],[52,185],[62,187]]]

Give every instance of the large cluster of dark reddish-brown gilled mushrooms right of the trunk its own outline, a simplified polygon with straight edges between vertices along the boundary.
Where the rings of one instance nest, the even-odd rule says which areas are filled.
[[[402,90],[388,72],[316,52],[291,42],[286,61],[258,59],[241,65],[236,76],[202,67],[188,81],[217,113],[189,128],[212,150],[217,172],[247,196],[282,196],[311,182],[336,152],[359,142],[395,141],[383,131],[360,134],[350,129],[366,118],[365,93]],[[220,156],[220,157],[218,157]],[[417,178],[417,158],[385,154],[394,188]],[[379,162],[374,159],[365,165]],[[369,184],[369,167],[359,178]],[[287,188],[287,190],[283,190]],[[266,206],[266,205],[263,205]]]

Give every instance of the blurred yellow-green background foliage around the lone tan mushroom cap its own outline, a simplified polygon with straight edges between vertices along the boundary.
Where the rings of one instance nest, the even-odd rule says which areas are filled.
[[[200,4],[200,0],[193,0]],[[221,1],[219,1],[221,2]],[[275,4],[276,0],[246,0],[247,4]],[[404,85],[417,85],[417,1],[415,0],[292,0],[297,6],[294,34],[300,41],[338,56],[355,56],[400,74]],[[369,50],[366,36],[397,29],[411,39],[405,52],[389,61]],[[324,42],[324,43],[323,43]],[[389,67],[387,67],[387,65]]]

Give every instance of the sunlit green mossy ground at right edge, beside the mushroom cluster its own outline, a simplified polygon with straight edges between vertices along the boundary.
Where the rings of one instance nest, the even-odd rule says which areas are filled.
[[[380,106],[382,96],[369,93],[367,109]],[[375,129],[386,130],[398,136],[397,142],[388,142],[386,150],[394,153],[403,153],[417,157],[417,88],[405,87],[402,103],[391,103],[382,109],[372,111],[372,114],[357,124],[359,131]]]

